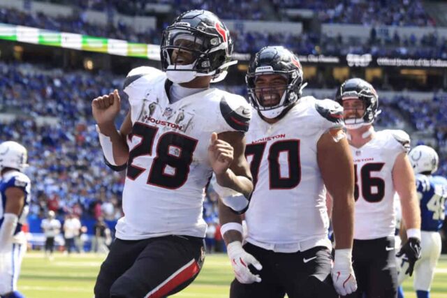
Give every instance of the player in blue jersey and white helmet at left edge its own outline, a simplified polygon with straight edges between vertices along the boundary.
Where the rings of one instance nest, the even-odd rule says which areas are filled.
[[[22,232],[31,194],[31,181],[23,173],[27,154],[17,142],[0,144],[0,297],[5,298],[24,297],[17,291],[17,280],[27,251]]]

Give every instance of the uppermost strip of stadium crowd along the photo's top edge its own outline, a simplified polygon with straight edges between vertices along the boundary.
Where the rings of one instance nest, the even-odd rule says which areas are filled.
[[[38,0],[43,1],[43,0]],[[48,1],[48,0],[47,0]],[[148,4],[168,4],[175,8],[175,13],[189,9],[205,9],[214,11],[222,19],[235,20],[265,20],[265,10],[261,8],[261,1],[205,1],[205,0],[52,0],[76,6],[81,10],[111,11],[124,15],[148,15],[154,11],[147,9]],[[271,8],[279,17],[284,8],[298,8],[313,10],[318,19],[324,23],[344,24],[386,24],[399,26],[434,26],[435,21],[425,12],[420,0],[273,0]],[[262,3],[266,5],[267,3]]]

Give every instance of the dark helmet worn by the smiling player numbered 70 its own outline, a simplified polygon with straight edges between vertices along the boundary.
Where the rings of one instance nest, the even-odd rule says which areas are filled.
[[[260,75],[281,75],[286,79],[286,89],[277,104],[263,105],[262,98],[256,95],[262,93],[261,89],[268,89],[256,87],[256,80]],[[293,52],[282,46],[263,47],[252,59],[245,77],[251,104],[263,117],[269,119],[279,117],[286,107],[301,97],[302,89],[305,87],[302,76],[302,66]]]

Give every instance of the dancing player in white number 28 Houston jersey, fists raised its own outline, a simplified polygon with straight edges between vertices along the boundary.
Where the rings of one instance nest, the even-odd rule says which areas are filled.
[[[140,67],[124,82],[131,112],[120,131],[117,91],[95,98],[105,159],[126,167],[125,216],[95,285],[99,297],[166,297],[196,278],[205,258],[205,186],[249,196],[253,189],[244,156],[250,107],[219,89],[233,43],[225,25],[206,10],[191,10],[164,32],[163,72]]]

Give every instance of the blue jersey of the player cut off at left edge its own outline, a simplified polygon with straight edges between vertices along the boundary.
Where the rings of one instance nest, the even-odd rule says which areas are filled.
[[[27,215],[29,211],[29,201],[31,193],[31,181],[27,175],[18,171],[10,171],[3,174],[0,178],[0,228],[3,224],[3,214],[5,214],[6,208],[6,190],[11,187],[20,188],[25,193],[25,202],[22,212],[19,214],[19,221],[14,234],[17,234],[22,230],[22,224],[27,221]]]

